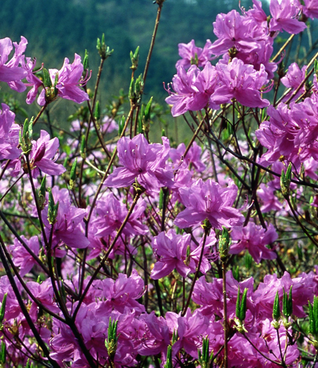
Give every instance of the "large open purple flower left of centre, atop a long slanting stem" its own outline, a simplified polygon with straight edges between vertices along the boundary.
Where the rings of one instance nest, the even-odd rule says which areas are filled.
[[[138,183],[146,190],[158,191],[160,187],[173,185],[173,172],[165,170],[165,161],[170,151],[169,139],[163,137],[163,145],[149,144],[143,134],[133,139],[122,137],[117,144],[119,163],[105,180],[107,187],[122,188]]]

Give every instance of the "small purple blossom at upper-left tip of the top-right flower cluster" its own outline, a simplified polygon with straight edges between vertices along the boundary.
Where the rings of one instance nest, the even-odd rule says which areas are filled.
[[[206,45],[204,48],[197,47],[194,43],[194,40],[190,41],[188,44],[179,43],[179,56],[182,57],[181,60],[177,61],[175,67],[183,66],[185,69],[191,67],[192,64],[196,64],[197,67],[204,67],[205,64],[211,60],[211,41],[206,40]]]

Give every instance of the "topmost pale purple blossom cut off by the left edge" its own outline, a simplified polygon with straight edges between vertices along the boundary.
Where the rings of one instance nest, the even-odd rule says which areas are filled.
[[[21,42],[25,43],[25,41],[25,38],[21,37]],[[23,92],[25,91],[25,86],[20,81],[25,78],[28,73],[23,70],[23,68],[19,67],[22,52],[20,52],[21,50],[16,43],[14,46],[16,47],[16,52],[8,62],[8,56],[13,49],[12,42],[10,38],[2,38],[0,40],[0,81],[7,82],[15,91]]]

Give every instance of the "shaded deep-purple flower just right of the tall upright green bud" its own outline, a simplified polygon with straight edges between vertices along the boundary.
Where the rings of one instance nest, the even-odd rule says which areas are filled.
[[[238,254],[247,249],[256,263],[259,263],[262,259],[273,260],[277,258],[275,252],[266,248],[267,245],[273,243],[278,238],[278,234],[272,224],[269,224],[267,230],[260,225],[254,224],[254,222],[249,222],[244,227],[234,226],[231,238],[233,241],[238,241],[230,246],[230,253],[232,254]]]

